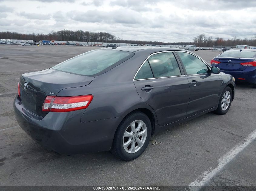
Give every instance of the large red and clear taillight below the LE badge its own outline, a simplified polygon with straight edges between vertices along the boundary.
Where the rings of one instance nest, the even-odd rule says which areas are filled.
[[[42,111],[68,112],[85,109],[91,103],[92,98],[93,95],[71,97],[47,96]]]

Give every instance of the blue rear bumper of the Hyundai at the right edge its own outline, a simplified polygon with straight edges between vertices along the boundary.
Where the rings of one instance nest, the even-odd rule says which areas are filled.
[[[243,71],[221,70],[221,72],[232,75],[236,81],[243,81],[243,82],[256,84],[256,67],[248,66]],[[244,78],[245,80],[238,79],[238,78]]]

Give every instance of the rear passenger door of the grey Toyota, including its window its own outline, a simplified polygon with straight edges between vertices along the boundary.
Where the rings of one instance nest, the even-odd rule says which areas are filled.
[[[141,99],[155,110],[160,126],[185,118],[189,84],[173,52],[152,54],[136,73],[134,84]]]

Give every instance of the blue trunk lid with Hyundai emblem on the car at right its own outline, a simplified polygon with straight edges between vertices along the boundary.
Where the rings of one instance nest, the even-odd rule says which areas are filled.
[[[240,63],[254,61],[254,59],[242,58],[216,58],[214,60],[220,62],[216,66],[225,71],[243,71],[247,65],[241,65]]]

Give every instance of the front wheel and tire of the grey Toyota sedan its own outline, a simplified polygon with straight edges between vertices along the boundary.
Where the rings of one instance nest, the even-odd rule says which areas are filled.
[[[227,102],[224,102],[224,108],[223,108],[223,107],[221,107],[221,106],[222,106],[222,98],[224,98],[224,97],[225,97],[224,94],[227,95],[228,92],[229,92],[230,97],[229,97],[228,99],[226,99]],[[225,98],[224,98],[224,99],[225,99]],[[219,100],[219,103],[218,103],[218,108],[217,108],[217,110],[215,110],[215,113],[216,113],[216,114],[219,114],[219,115],[224,115],[224,114],[226,114],[226,113],[228,112],[230,106],[231,106],[232,99],[233,99],[232,90],[231,90],[230,87],[227,86],[227,87],[223,90],[223,92],[222,92],[222,94],[221,94],[221,97],[220,97],[220,100]],[[228,104],[228,107],[227,107],[228,100],[229,100],[229,104]],[[226,104],[225,104],[225,103],[226,103]]]

